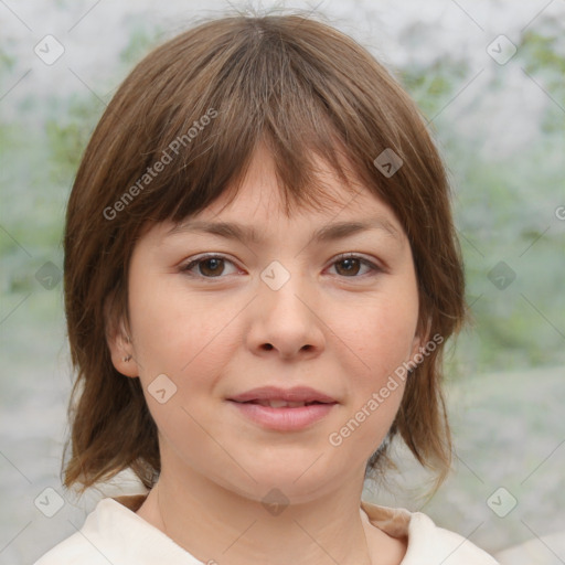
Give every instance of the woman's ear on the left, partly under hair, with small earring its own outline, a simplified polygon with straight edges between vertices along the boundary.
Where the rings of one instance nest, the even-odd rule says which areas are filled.
[[[106,321],[106,343],[110,351],[111,364],[125,376],[139,376],[139,365],[136,361],[136,348],[130,338],[131,332],[124,320],[124,316],[118,316],[115,309],[113,297],[109,297],[104,305],[104,318]]]

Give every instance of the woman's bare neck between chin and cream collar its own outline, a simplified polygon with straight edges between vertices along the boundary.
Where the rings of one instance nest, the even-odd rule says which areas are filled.
[[[203,563],[372,565],[360,510],[362,480],[361,488],[285,505],[249,500],[189,475],[172,481],[163,469],[138,514]]]

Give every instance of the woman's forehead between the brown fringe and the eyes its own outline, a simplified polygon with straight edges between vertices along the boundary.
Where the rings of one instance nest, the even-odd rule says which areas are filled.
[[[372,231],[404,246],[406,237],[394,213],[366,186],[359,182],[344,185],[332,169],[321,162],[317,184],[323,189],[317,195],[323,206],[295,203],[287,214],[269,156],[258,153],[235,195],[226,200],[223,194],[200,213],[179,223],[161,225],[160,238],[207,234],[259,245],[280,243],[296,235],[311,242],[330,243]]]

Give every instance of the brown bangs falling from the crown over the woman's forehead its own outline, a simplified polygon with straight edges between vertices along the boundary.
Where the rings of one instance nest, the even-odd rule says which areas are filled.
[[[278,29],[269,18],[234,18],[230,28],[212,46],[206,25],[181,36],[172,45],[175,57],[167,46],[170,64],[150,67],[157,95],[145,100],[134,132],[145,137],[147,151],[132,180],[139,196],[128,213],[178,223],[224,193],[232,200],[260,145],[273,157],[287,215],[334,202],[319,174],[320,160],[344,189],[354,192],[359,181],[375,188],[379,139],[366,143],[360,136],[374,108],[360,107],[355,85],[332,64],[328,47],[317,51],[315,38],[300,44],[288,24]],[[160,58],[159,50],[153,57]],[[154,178],[143,173],[159,161]]]

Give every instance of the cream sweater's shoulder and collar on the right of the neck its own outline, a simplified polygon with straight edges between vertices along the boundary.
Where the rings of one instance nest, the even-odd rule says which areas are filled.
[[[493,557],[469,540],[438,527],[422,512],[377,507],[367,502],[362,502],[361,507],[373,525],[393,537],[407,537],[407,551],[402,565],[498,565]]]

